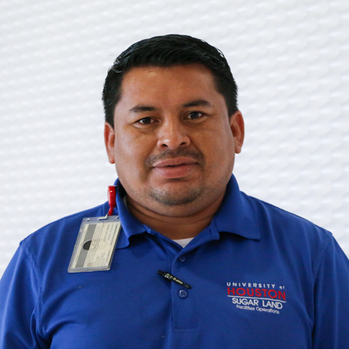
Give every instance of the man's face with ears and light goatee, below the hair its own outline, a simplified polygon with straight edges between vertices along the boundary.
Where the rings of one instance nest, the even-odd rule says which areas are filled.
[[[124,75],[110,163],[129,198],[165,215],[192,214],[225,192],[244,122],[228,118],[211,71],[200,64],[133,68]]]

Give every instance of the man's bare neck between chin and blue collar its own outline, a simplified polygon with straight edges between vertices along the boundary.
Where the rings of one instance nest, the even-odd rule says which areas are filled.
[[[216,211],[221,205],[223,197],[224,193],[218,200],[214,200],[211,205],[193,214],[177,214],[175,216],[167,216],[158,211],[148,209],[135,202],[128,195],[126,198],[129,211],[138,221],[170,239],[186,239],[188,237],[195,237],[211,223],[214,214],[216,214]],[[181,211],[186,212],[187,210],[181,208]]]

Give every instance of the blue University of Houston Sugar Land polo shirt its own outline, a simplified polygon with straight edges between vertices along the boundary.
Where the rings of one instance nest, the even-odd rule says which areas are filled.
[[[184,248],[133,218],[118,193],[111,269],[69,274],[82,218],[107,211],[21,242],[0,282],[1,348],[349,348],[346,255],[331,233],[245,195],[234,177]]]

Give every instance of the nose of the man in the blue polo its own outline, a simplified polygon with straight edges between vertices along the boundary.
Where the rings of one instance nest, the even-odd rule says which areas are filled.
[[[178,147],[188,147],[189,144],[191,144],[191,140],[188,130],[184,125],[181,125],[179,120],[165,121],[158,128],[158,149],[177,149]]]

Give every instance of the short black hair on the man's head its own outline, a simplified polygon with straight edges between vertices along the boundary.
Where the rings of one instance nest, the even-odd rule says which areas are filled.
[[[114,110],[121,98],[124,74],[135,67],[169,67],[203,64],[214,75],[217,91],[224,97],[229,117],[237,111],[237,84],[223,53],[206,41],[188,35],[154,36],[134,43],[110,67],[103,88],[105,121],[114,127]]]

